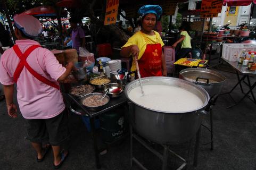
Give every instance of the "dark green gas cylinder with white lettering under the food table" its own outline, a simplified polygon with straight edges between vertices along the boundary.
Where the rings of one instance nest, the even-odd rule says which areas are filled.
[[[103,141],[112,142],[122,137],[123,133],[125,133],[125,114],[120,109],[114,109],[99,117]]]

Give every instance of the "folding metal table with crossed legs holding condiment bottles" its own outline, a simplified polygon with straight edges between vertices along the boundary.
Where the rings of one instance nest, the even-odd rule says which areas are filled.
[[[256,71],[250,71],[247,69],[246,66],[238,65],[237,62],[230,62],[230,61],[225,60],[222,57],[221,57],[221,59],[233,67],[233,69],[236,71],[236,75],[237,75],[237,79],[238,79],[238,82],[235,84],[235,86],[229,92],[226,92],[225,94],[228,94],[234,100],[234,98],[230,95],[230,93],[238,85],[240,85],[240,89],[241,89],[242,93],[244,94],[244,96],[239,101],[236,102],[234,100],[235,104],[228,106],[227,108],[231,108],[233,106],[238,105],[245,97],[248,97],[256,105],[256,99],[255,99],[255,96],[252,91],[256,87],[256,81],[252,84],[251,80],[250,80],[251,76],[256,76]],[[242,76],[243,76],[242,78],[240,78],[240,74],[242,74]],[[245,79],[247,79],[247,82],[245,82]],[[249,91],[244,92],[242,82],[244,82],[245,85],[249,87]],[[221,94],[221,95],[225,95],[225,94]],[[249,96],[249,94],[251,94],[251,96]]]

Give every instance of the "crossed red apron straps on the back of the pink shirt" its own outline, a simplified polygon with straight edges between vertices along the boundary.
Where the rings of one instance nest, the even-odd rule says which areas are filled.
[[[17,83],[19,77],[20,77],[20,73],[22,72],[24,66],[26,67],[26,69],[32,74],[34,75],[35,78],[37,78],[39,81],[47,84],[48,86],[54,87],[58,90],[60,90],[59,85],[55,84],[55,82],[49,81],[48,79],[46,79],[45,77],[43,77],[42,75],[38,74],[35,70],[32,69],[32,67],[30,67],[30,65],[27,63],[27,57],[30,55],[30,53],[32,51],[34,51],[36,48],[41,47],[39,45],[32,45],[30,46],[26,52],[24,52],[22,54],[20,48],[18,47],[18,45],[14,45],[13,46],[13,50],[16,53],[16,55],[18,55],[18,57],[20,58],[20,63],[18,64],[18,66],[16,67],[16,70],[13,74],[13,79],[14,81]]]

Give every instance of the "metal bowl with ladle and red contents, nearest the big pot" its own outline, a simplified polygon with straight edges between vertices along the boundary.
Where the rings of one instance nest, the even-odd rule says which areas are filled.
[[[109,83],[102,87],[103,93],[106,92],[106,90],[109,89],[109,92],[107,93],[111,98],[119,97],[123,93],[124,87],[119,83]]]

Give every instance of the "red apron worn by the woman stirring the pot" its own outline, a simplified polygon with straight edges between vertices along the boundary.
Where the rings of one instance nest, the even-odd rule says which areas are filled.
[[[143,35],[144,37],[144,35]],[[144,37],[145,39],[145,37]],[[145,39],[146,41],[146,39]],[[147,41],[146,41],[147,43]],[[162,76],[162,46],[158,44],[148,44],[142,57],[138,60],[139,73],[142,78],[152,76]]]

